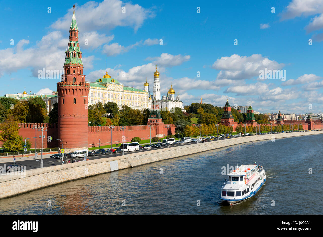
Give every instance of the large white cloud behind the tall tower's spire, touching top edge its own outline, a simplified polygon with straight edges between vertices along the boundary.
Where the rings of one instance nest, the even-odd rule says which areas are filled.
[[[122,7],[125,7],[125,13],[122,13]],[[72,13],[73,8],[70,8],[68,13],[54,22],[51,27],[57,30],[68,30]],[[155,16],[152,9],[118,0],[105,0],[101,3],[89,1],[84,5],[77,5],[75,14],[78,29],[83,32],[110,30],[118,26],[129,26],[137,32],[147,18]]]

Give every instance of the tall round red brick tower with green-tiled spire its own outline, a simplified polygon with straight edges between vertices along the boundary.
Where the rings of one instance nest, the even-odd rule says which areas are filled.
[[[62,82],[57,83],[58,139],[64,141],[64,149],[73,151],[88,148],[88,95],[90,85],[83,74],[82,51],[78,43],[73,5],[73,17],[69,28],[69,43],[65,51]]]

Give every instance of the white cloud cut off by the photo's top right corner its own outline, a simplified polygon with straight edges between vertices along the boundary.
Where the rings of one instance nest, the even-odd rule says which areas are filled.
[[[281,14],[281,20],[292,19],[298,16],[309,16],[323,12],[322,0],[292,0]]]

